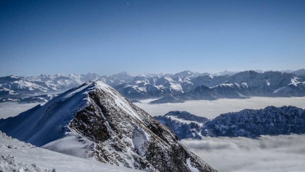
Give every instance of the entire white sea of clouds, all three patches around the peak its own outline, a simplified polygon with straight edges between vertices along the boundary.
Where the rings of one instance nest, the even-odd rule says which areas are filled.
[[[149,101],[135,104],[151,115],[180,110],[208,118],[270,105],[305,108],[305,97],[198,100],[159,105],[148,104]],[[18,115],[38,104],[0,103],[0,118]],[[205,137],[201,140],[182,140],[181,143],[219,172],[304,172],[305,169],[305,135],[261,136],[258,139]]]

